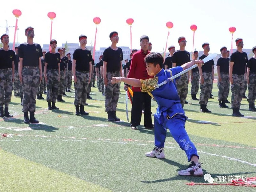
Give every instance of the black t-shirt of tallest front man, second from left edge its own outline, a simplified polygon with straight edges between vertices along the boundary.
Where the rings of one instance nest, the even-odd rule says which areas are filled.
[[[39,65],[39,58],[43,56],[43,52],[41,46],[37,43],[32,45],[23,43],[19,46],[18,55],[20,58],[23,58],[23,66],[37,67]]]

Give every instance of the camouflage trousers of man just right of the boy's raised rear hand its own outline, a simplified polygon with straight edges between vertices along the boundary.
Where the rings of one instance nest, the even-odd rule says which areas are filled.
[[[212,72],[203,72],[204,84],[200,84],[199,104],[207,105],[212,89]]]

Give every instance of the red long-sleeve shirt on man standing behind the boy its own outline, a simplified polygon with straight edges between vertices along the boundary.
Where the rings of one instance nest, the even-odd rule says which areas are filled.
[[[132,56],[130,71],[127,76],[128,78],[149,79],[149,78],[154,77],[154,76],[148,75],[146,63],[144,62],[144,58],[149,53],[150,52],[147,51],[147,53],[145,54],[142,49],[140,51],[137,51],[136,53],[134,53],[134,55]],[[133,91],[141,92],[140,87],[134,87]]]

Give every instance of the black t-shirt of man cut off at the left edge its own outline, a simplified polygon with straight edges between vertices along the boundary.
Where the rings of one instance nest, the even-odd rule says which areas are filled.
[[[0,69],[12,68],[12,61],[15,61],[15,52],[13,50],[5,51],[0,49]]]

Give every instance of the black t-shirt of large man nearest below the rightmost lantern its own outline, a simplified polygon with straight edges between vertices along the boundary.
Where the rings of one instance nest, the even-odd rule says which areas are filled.
[[[236,50],[236,52],[232,53],[232,55],[230,56],[230,62],[234,62],[232,74],[245,74],[245,66],[246,63],[248,62],[246,52],[240,53]]]

